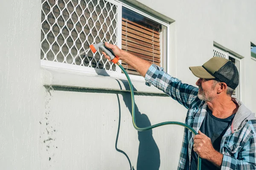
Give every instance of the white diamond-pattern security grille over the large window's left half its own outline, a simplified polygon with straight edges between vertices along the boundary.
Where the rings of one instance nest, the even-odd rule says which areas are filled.
[[[117,6],[106,0],[42,0],[41,59],[116,71],[90,44],[116,45]]]

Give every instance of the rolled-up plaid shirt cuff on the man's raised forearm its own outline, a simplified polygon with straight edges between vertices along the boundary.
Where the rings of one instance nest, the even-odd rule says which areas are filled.
[[[154,80],[157,78],[160,71],[163,71],[162,67],[152,64],[148,68],[148,71],[145,74],[145,81],[146,81],[145,84],[148,86],[151,86],[153,84]]]

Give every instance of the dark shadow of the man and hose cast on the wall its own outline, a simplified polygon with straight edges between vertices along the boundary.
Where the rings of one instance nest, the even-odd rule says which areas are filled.
[[[97,70],[95,69],[95,71],[99,75],[103,74],[104,76],[110,76],[105,70],[101,70],[100,72],[97,72]],[[122,90],[122,86],[120,84],[120,81],[125,86],[125,90],[130,91],[130,87],[127,80],[116,79],[116,81],[118,82],[121,90]],[[134,91],[137,91],[136,88],[134,88]],[[120,94],[122,95],[123,101],[131,114],[132,113],[131,94],[128,92],[121,92]],[[131,161],[128,155],[123,150],[120,150],[117,147],[119,130],[120,130],[120,122],[121,122],[121,106],[120,106],[119,94],[116,94],[116,97],[117,97],[118,106],[119,106],[119,121],[118,121],[118,128],[117,128],[117,134],[116,134],[115,148],[118,152],[124,154],[125,157],[128,159],[130,170],[134,170],[134,167],[131,165]],[[141,113],[136,104],[134,105],[134,109],[135,109],[134,116],[136,117],[137,126],[138,127],[151,126],[151,122],[148,119],[148,116],[146,114]],[[156,142],[154,141],[152,134],[153,134],[152,129],[141,131],[141,132],[138,131],[138,139],[140,144],[138,148],[138,158],[137,158],[137,168],[136,168],[137,170],[159,170],[160,152]]]

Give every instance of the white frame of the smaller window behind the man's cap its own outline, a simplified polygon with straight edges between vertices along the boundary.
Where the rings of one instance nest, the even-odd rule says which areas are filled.
[[[232,57],[233,59],[236,59],[237,61],[239,61],[239,68],[238,68],[238,71],[239,71],[239,89],[238,89],[238,94],[239,96],[236,96],[238,99],[241,99],[241,58],[239,57],[236,57],[234,56],[233,54],[231,54],[230,52],[220,48],[220,47],[217,47],[217,46],[213,46],[213,51],[218,51],[219,53],[222,54],[222,57],[225,58],[225,59],[229,59],[229,57]],[[214,52],[213,52],[213,57],[219,57],[219,56],[215,56]]]

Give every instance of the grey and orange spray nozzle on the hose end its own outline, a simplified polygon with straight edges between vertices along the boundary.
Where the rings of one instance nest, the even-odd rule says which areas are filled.
[[[118,59],[116,58],[114,52],[110,48],[105,46],[105,42],[99,42],[98,44],[90,45],[90,49],[93,53],[96,53],[96,51],[98,51],[99,48],[101,48],[102,51],[104,51],[110,57],[113,63],[116,64],[118,62]]]

